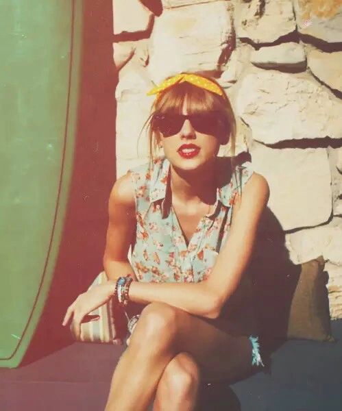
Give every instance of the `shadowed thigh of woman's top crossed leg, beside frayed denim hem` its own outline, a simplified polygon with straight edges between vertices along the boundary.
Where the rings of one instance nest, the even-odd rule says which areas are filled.
[[[227,379],[234,382],[254,372],[252,344],[247,336],[231,335],[217,327],[215,321],[201,319],[164,303],[149,304],[138,322],[142,326],[142,323],[154,321],[156,314],[164,319],[165,332],[175,330],[175,352],[185,351],[195,359],[202,381]],[[151,324],[148,326],[151,329]]]

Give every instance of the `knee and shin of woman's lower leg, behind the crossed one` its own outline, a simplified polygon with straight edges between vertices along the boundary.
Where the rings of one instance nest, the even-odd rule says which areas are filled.
[[[154,411],[192,411],[197,403],[199,366],[188,353],[179,353],[167,364],[158,383]]]

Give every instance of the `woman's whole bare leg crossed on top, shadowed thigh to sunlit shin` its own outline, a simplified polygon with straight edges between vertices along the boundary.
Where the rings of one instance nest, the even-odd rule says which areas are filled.
[[[114,371],[106,411],[145,411],[167,364],[184,351],[199,364],[204,379],[224,376],[234,381],[252,371],[247,337],[228,336],[183,310],[151,303]]]

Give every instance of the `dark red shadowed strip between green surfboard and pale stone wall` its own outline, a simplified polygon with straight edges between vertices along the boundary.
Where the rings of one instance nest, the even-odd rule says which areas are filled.
[[[115,175],[112,0],[84,0],[81,92],[71,198],[50,295],[22,364],[71,343],[62,318],[103,269],[108,197]]]

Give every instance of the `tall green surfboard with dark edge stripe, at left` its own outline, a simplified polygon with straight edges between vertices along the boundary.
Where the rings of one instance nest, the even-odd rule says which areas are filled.
[[[82,0],[1,0],[0,21],[0,366],[17,366],[42,313],[62,240]]]

